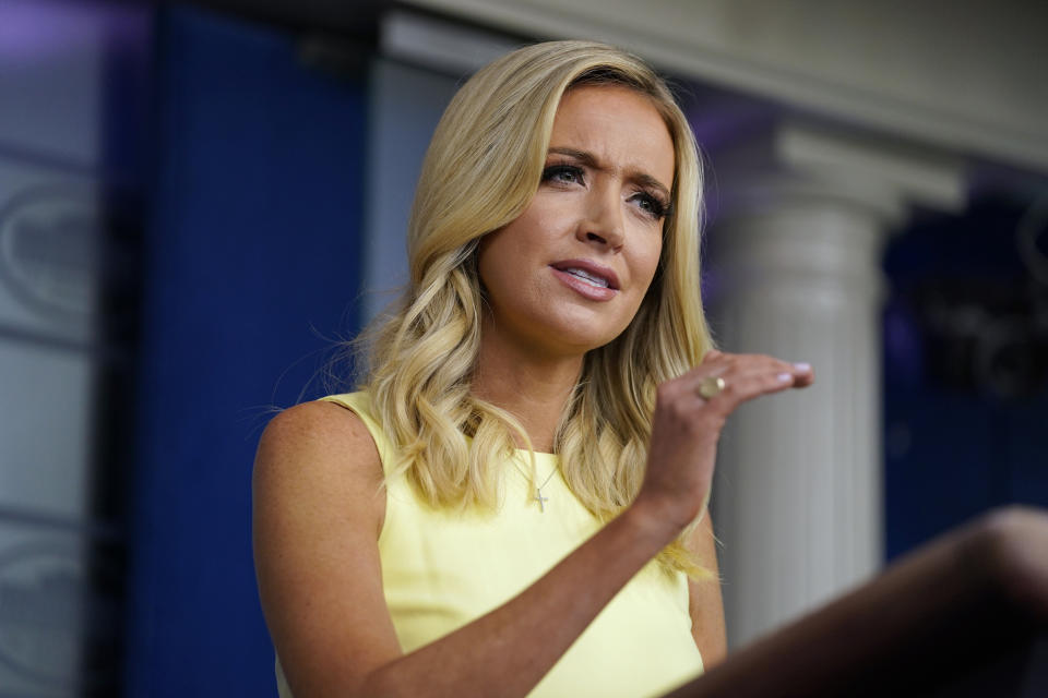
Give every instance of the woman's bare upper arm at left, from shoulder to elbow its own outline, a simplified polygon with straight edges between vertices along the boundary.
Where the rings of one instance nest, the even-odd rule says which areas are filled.
[[[369,671],[401,655],[382,592],[381,485],[371,434],[338,405],[293,407],[262,434],[252,482],[255,574],[296,695],[352,695]]]

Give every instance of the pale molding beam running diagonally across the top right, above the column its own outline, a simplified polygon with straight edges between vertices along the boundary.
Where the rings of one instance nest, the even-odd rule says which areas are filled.
[[[1036,33],[1024,28],[1048,20],[1048,10],[1036,3],[995,3],[991,9],[979,2],[949,9],[877,3],[874,10],[864,10],[845,2],[832,5],[835,11],[807,0],[407,4],[537,38],[609,41],[682,77],[958,154],[1048,170],[1048,82],[1039,75],[1048,64],[1048,41],[1032,39]],[[938,21],[943,13],[949,16]],[[1000,26],[979,25],[988,13]],[[893,23],[898,32],[886,31]],[[865,33],[867,25],[879,34]],[[968,35],[972,40],[965,40]],[[726,36],[750,40],[733,43]],[[1010,38],[1014,45],[1007,44]],[[883,43],[880,51],[868,46],[873,39]],[[847,64],[819,63],[813,57],[820,53],[847,58],[842,61]],[[909,62],[902,61],[905,70],[893,74],[897,67],[891,60],[897,55]],[[958,76],[951,65],[964,67],[970,75]]]

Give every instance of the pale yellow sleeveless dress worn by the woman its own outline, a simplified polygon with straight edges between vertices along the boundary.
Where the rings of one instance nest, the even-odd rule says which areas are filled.
[[[364,421],[383,467],[391,445],[366,393],[327,398]],[[600,522],[575,498],[559,458],[535,454],[543,502],[528,478],[527,452],[503,469],[493,514],[434,509],[404,479],[388,482],[379,534],[385,602],[404,652],[502,605],[597,532]],[[529,694],[532,698],[660,696],[702,673],[691,636],[688,582],[650,563],[608,603]],[[291,693],[277,659],[282,698]]]

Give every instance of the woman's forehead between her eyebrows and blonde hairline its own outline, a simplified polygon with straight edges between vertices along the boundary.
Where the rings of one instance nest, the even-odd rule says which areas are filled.
[[[622,85],[582,85],[564,93],[550,147],[592,153],[608,166],[674,181],[674,142],[650,97]]]

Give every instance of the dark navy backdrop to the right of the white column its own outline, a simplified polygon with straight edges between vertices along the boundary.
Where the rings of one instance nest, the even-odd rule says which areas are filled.
[[[1048,296],[1014,243],[1027,206],[984,194],[963,216],[918,217],[888,248],[889,561],[989,508],[1048,507],[1048,332],[1037,300]],[[1004,335],[1002,323],[1022,329]]]

